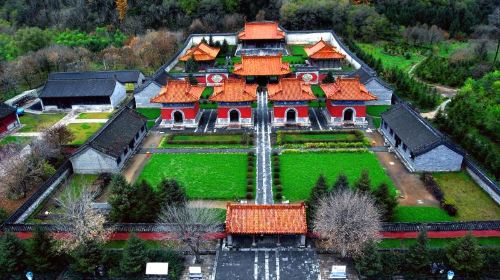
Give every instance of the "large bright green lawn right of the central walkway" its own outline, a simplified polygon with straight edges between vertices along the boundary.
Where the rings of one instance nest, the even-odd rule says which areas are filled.
[[[306,200],[320,174],[326,176],[329,185],[333,185],[343,172],[353,184],[363,169],[369,171],[373,187],[386,182],[396,194],[393,182],[371,152],[283,153],[280,167],[286,200]]]

